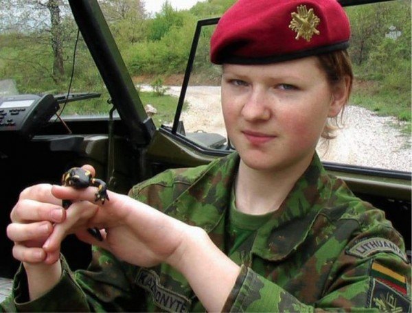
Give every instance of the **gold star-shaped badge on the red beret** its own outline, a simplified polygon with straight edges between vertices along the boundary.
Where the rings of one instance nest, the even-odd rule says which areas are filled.
[[[313,34],[320,34],[316,27],[321,22],[321,19],[314,15],[313,9],[308,10],[306,5],[299,5],[297,12],[293,12],[290,15],[292,15],[292,21],[290,21],[289,28],[297,33],[296,40],[302,37],[306,41],[310,41]]]

